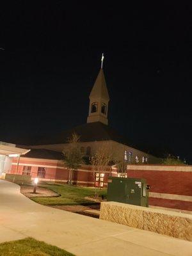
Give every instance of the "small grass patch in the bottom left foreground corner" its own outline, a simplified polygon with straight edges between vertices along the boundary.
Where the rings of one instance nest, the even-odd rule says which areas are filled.
[[[22,240],[0,244],[1,256],[72,256],[74,254],[56,246],[36,241],[29,237]]]

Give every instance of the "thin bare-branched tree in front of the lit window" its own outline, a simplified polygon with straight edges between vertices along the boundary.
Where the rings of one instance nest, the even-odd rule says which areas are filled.
[[[92,164],[93,179],[95,181],[95,198],[99,198],[101,182],[104,182],[103,174],[109,168],[109,163],[113,159],[113,148],[109,144],[102,144],[95,154],[90,157],[90,164]],[[103,178],[103,180],[101,180]]]

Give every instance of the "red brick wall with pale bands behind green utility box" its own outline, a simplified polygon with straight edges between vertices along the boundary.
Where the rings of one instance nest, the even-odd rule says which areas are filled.
[[[192,166],[129,164],[127,177],[147,179],[149,205],[192,213]]]

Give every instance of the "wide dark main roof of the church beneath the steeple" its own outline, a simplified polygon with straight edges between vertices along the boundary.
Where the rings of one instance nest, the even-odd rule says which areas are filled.
[[[122,143],[124,145],[127,145],[132,148],[136,148],[138,150],[141,150],[143,152],[147,152],[148,154],[152,154],[157,157],[162,157],[164,150],[161,148],[154,148],[152,145],[143,145],[143,143],[134,143],[132,140],[127,140],[124,136],[121,136],[118,134],[117,131],[114,129],[111,129],[108,125],[102,124],[101,122],[93,122],[93,123],[88,123],[88,124],[83,124],[83,125],[78,125],[72,129],[68,129],[65,131],[62,131],[58,134],[47,134],[45,135],[44,138],[36,138],[35,141],[30,141],[30,140],[24,140],[20,141],[19,145],[17,147],[22,147],[22,148],[31,148],[30,146],[32,145],[52,145],[52,144],[62,144],[62,143],[67,143],[68,138],[71,137],[72,133],[76,132],[77,135],[80,136],[80,141],[81,142],[89,142],[89,141],[108,141],[108,140],[113,140],[118,143]],[[33,154],[35,158],[40,158],[38,157],[38,153],[44,154],[45,151],[43,152],[38,152],[38,151],[33,151],[31,149],[31,152],[26,154],[26,157],[29,156],[29,154]],[[51,150],[47,150],[48,152],[54,152]],[[170,152],[170,151],[169,151]],[[53,153],[54,154],[54,153]],[[54,157],[54,156],[52,156]],[[59,156],[56,156],[59,157]],[[43,157],[44,158],[44,157]],[[46,157],[45,157],[46,158]],[[51,159],[47,156],[47,159]],[[54,158],[52,158],[54,159]]]

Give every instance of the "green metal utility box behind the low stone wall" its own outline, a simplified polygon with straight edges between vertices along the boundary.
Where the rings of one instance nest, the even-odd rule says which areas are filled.
[[[148,188],[145,179],[109,177],[107,200],[148,207]]]

